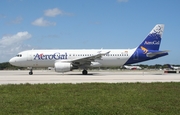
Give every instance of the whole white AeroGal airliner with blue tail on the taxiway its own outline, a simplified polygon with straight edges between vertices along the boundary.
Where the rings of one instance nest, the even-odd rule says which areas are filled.
[[[143,42],[133,49],[67,49],[67,50],[26,50],[9,60],[14,66],[28,67],[29,75],[34,67],[53,67],[64,73],[82,69],[87,75],[90,67],[117,67],[139,63],[168,55],[160,51],[164,24],[157,24]]]

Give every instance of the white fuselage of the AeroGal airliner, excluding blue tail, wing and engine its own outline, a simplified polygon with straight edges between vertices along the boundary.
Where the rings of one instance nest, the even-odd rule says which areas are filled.
[[[20,52],[10,62],[21,67],[54,67],[56,61],[72,61],[109,52],[101,59],[94,60],[91,66],[121,66],[136,49],[89,49],[89,50],[27,50]],[[18,63],[15,63],[18,62]],[[97,63],[96,63],[97,62]]]

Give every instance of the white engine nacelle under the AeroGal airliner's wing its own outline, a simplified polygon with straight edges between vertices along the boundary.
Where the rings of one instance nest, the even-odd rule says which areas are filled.
[[[56,72],[68,72],[71,71],[72,65],[71,63],[66,63],[66,62],[56,62],[54,64],[54,68]]]

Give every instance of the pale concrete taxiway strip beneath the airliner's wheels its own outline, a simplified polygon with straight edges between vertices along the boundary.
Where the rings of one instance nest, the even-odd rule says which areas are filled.
[[[0,84],[43,84],[43,83],[135,83],[135,82],[180,82],[180,74],[163,71],[81,71],[56,73],[49,70],[0,71]]]

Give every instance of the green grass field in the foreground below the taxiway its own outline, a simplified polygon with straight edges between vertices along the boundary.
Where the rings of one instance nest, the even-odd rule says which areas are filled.
[[[179,115],[180,83],[0,85],[0,115]]]

